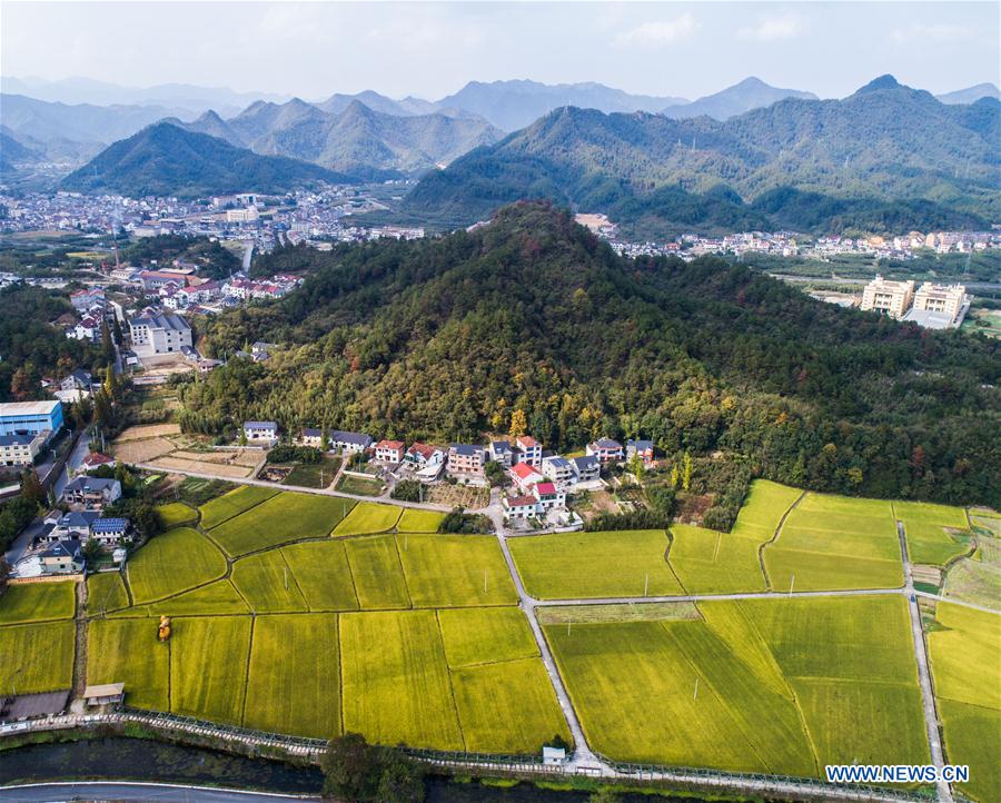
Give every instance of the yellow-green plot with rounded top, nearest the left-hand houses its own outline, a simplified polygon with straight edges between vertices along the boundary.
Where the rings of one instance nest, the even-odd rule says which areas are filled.
[[[176,527],[138,549],[127,571],[136,603],[149,603],[221,577],[226,558],[201,533]]]

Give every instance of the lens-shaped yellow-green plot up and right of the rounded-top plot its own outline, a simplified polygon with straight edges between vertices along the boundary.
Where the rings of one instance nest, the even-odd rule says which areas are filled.
[[[303,538],[328,535],[350,500],[314,494],[283,493],[212,529],[212,537],[234,557]]]

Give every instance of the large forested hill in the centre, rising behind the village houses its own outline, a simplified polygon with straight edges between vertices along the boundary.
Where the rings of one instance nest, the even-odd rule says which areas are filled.
[[[232,359],[184,390],[185,426],[244,418],[438,443],[652,437],[799,486],[1001,504],[997,343],[814,301],[715,258],[631,261],[541,204],[473,232],[278,250],[283,301],[205,324]]]

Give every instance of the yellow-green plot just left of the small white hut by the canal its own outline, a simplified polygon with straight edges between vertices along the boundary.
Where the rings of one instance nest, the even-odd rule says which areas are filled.
[[[572,740],[541,658],[455,670],[452,687],[466,750],[532,753],[553,734]]]

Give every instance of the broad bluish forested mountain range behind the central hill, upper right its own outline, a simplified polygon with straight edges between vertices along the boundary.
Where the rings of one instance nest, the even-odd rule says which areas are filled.
[[[1001,102],[948,106],[884,76],[725,122],[563,108],[429,174],[408,215],[468,224],[546,197],[644,234],[983,228],[1001,217]]]

